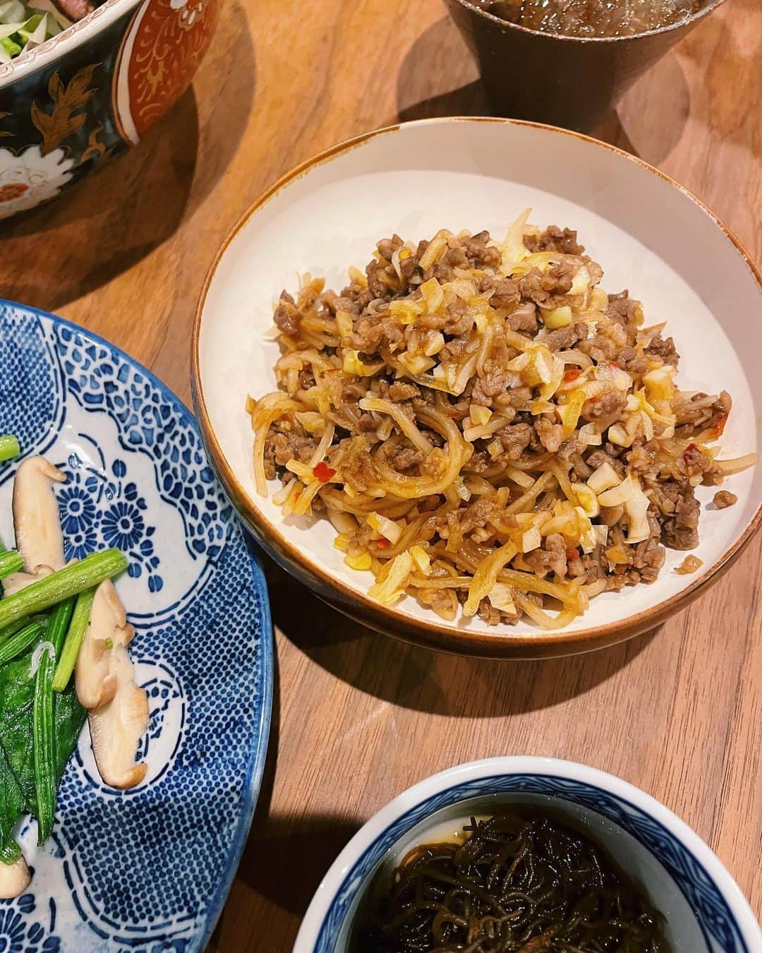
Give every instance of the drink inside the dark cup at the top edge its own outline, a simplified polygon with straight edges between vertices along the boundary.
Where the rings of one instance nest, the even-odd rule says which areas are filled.
[[[633,36],[687,19],[707,0],[475,0],[531,30],[565,36]]]

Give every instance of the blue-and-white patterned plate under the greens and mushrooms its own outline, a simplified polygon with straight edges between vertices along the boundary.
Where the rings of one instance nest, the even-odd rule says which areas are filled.
[[[190,953],[217,921],[246,841],[267,750],[272,629],[262,570],[183,404],[113,345],[0,300],[0,433],[69,476],[70,558],[118,546],[117,588],[149,694],[146,780],[104,787],[87,728],[34,877],[0,902],[0,953]],[[0,468],[12,538],[14,467]]]

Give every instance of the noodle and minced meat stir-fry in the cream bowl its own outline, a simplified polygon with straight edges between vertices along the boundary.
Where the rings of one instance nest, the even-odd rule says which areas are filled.
[[[718,458],[731,396],[681,391],[664,324],[528,215],[502,242],[395,234],[341,294],[307,275],[247,409],[258,492],[328,517],[371,597],[553,629],[695,547],[694,488],[754,456]]]

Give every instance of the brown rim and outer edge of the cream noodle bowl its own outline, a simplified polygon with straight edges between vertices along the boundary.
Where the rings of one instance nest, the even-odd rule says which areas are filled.
[[[577,139],[582,139],[584,142],[607,149],[627,159],[629,162],[639,165],[647,172],[651,172],[664,182],[667,182],[672,188],[687,195],[702,212],[712,218],[715,225],[725,233],[736,251],[740,253],[762,293],[762,274],[759,273],[752,261],[751,255],[746,251],[737,236],[692,192],[680,185],[679,182],[675,182],[669,175],[655,169],[630,152],[624,152],[616,146],[601,142],[598,139],[593,139],[592,136],[584,135],[582,132],[559,129],[555,126],[549,126],[546,123],[535,123],[520,119],[504,119],[495,116],[446,116],[435,119],[419,119],[415,122],[404,123],[402,125],[424,126],[441,122],[485,122],[510,124],[511,126],[528,126],[531,129],[540,129],[546,132],[569,135]],[[717,559],[712,566],[704,570],[701,576],[693,579],[692,583],[674,598],[659,602],[652,606],[651,609],[647,609],[635,616],[623,618],[616,622],[609,622],[606,625],[598,625],[591,629],[580,629],[575,632],[538,630],[536,635],[511,635],[510,632],[492,634],[476,631],[469,632],[467,629],[457,629],[443,624],[438,618],[424,620],[409,616],[397,611],[393,607],[376,602],[364,592],[356,592],[341,579],[331,576],[323,566],[318,563],[313,563],[309,558],[306,558],[299,551],[297,546],[293,545],[283,536],[275,524],[271,523],[267,517],[264,517],[256,506],[256,503],[251,499],[233,473],[231,466],[225,458],[211,426],[211,420],[204,397],[204,389],[201,383],[199,354],[204,305],[211,287],[211,281],[213,280],[222,256],[228,250],[232,240],[249,221],[251,215],[262,208],[262,206],[291,183],[291,181],[310,172],[311,169],[318,165],[322,165],[345,152],[356,149],[358,146],[363,145],[376,136],[398,132],[399,129],[400,124],[397,124],[395,126],[387,126],[383,129],[373,130],[372,132],[364,132],[344,142],[337,143],[323,152],[318,152],[316,155],[295,166],[291,172],[286,172],[285,175],[282,175],[274,182],[271,187],[263,192],[256,201],[253,202],[250,208],[243,213],[214,255],[210,269],[204,279],[193,317],[193,332],[191,337],[191,394],[201,436],[215,470],[217,471],[217,475],[220,477],[229,497],[238,501],[236,509],[239,510],[244,521],[251,526],[254,535],[263,541],[264,547],[271,552],[271,554],[273,551],[277,554],[273,557],[276,561],[280,562],[281,565],[285,564],[285,568],[301,581],[314,580],[327,592],[340,595],[341,599],[339,601],[343,604],[336,607],[345,614],[350,615],[351,618],[358,619],[379,632],[391,632],[396,638],[411,642],[414,645],[425,645],[429,648],[438,649],[439,651],[449,651],[459,655],[481,656],[483,658],[532,659],[543,656],[572,655],[578,652],[590,652],[593,649],[611,645],[614,642],[631,639],[633,636],[654,628],[666,618],[669,618],[675,612],[678,612],[692,602],[711,582],[716,581],[721,573],[730,568],[735,558],[740,555],[756,531],[762,526],[762,503],[757,507],[746,529],[732,544],[730,549]],[[331,604],[335,605],[335,602],[333,602],[330,597],[323,595],[321,598],[326,598],[328,601],[331,601]],[[351,608],[348,608],[348,606]]]

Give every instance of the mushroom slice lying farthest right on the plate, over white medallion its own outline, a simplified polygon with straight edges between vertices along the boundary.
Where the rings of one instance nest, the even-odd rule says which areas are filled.
[[[146,777],[148,765],[136,764],[140,739],[149,726],[149,699],[135,684],[134,669],[124,645],[110,650],[110,674],[116,678],[113,698],[90,712],[90,737],[95,763],[111,787],[134,787]]]

